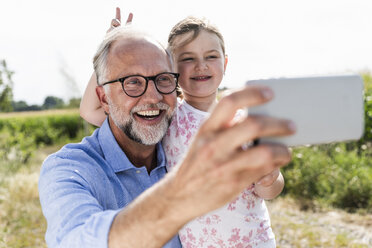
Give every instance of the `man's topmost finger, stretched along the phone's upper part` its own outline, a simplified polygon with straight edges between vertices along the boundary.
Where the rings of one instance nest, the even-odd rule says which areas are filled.
[[[233,92],[219,101],[202,126],[202,130],[217,131],[224,128],[234,118],[238,109],[263,104],[273,95],[272,90],[264,86],[246,86],[242,90]]]

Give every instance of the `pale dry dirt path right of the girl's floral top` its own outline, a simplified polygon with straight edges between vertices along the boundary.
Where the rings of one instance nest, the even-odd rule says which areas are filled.
[[[268,202],[278,248],[372,247],[372,215],[300,210],[287,198]]]

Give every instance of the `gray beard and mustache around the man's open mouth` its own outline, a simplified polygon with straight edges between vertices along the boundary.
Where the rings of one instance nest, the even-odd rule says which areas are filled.
[[[134,113],[151,108],[158,108],[166,111],[165,117],[156,125],[143,125],[134,119]],[[173,112],[169,112],[170,107],[165,103],[149,104],[134,107],[129,116],[123,114],[118,106],[109,102],[110,116],[115,125],[131,140],[143,144],[154,145],[161,141],[166,134],[172,120]]]

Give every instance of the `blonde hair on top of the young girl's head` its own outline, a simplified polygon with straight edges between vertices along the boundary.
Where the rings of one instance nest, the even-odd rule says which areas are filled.
[[[211,24],[206,19],[197,18],[194,16],[186,17],[185,19],[181,20],[179,23],[177,23],[172,28],[168,36],[168,48],[173,53],[177,47],[182,47],[190,43],[191,41],[193,41],[199,35],[200,31],[202,30],[217,35],[221,43],[223,55],[225,55],[225,41],[223,39],[221,32],[218,30],[218,28],[215,25]],[[188,38],[187,40],[183,41],[180,44],[175,44],[175,38],[177,36],[180,36],[180,35],[183,35],[189,32],[193,32],[190,38]]]

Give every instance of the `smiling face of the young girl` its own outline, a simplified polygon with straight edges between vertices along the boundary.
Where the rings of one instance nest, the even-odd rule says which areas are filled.
[[[181,43],[190,36],[191,33],[186,33],[177,37],[175,42]],[[215,98],[227,64],[217,35],[201,31],[193,41],[176,48],[174,57],[185,99]]]

